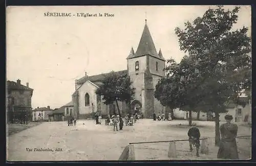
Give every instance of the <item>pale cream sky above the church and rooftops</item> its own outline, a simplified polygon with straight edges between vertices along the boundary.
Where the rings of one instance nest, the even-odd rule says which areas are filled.
[[[224,6],[233,9],[234,6]],[[72,100],[75,79],[127,69],[126,57],[136,52],[147,19],[157,52],[180,62],[175,28],[216,6],[11,6],[6,11],[7,80],[29,82],[32,108],[59,108]],[[44,16],[47,12],[71,17]],[[80,17],[77,13],[97,14]],[[99,16],[101,13],[103,16]],[[114,16],[104,16],[104,13]],[[73,16],[74,14],[74,16]],[[79,14],[81,15],[81,14]],[[241,6],[233,29],[248,27],[251,8]]]

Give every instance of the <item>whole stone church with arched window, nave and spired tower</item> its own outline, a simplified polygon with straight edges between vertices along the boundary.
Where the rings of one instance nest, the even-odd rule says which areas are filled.
[[[121,114],[134,113],[137,109],[145,118],[152,118],[153,113],[165,112],[165,107],[154,97],[155,86],[159,79],[164,77],[165,59],[161,49],[157,53],[150,30],[146,24],[142,32],[136,52],[131,49],[127,56],[127,69],[115,72],[116,74],[128,74],[135,88],[134,100],[130,108],[125,102],[119,102]],[[78,119],[90,117],[92,112],[99,112],[103,116],[117,112],[115,103],[103,104],[103,97],[98,96],[95,90],[101,84],[106,74],[87,76],[87,74],[75,80],[75,92],[72,94],[74,105],[73,115]]]

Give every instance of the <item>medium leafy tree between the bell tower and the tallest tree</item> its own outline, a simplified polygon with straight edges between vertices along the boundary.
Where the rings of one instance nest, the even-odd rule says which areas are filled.
[[[202,83],[197,62],[185,56],[179,64],[174,59],[167,60],[166,77],[156,85],[155,98],[170,109],[181,108],[189,111],[189,125],[192,123],[191,112],[198,111],[203,93],[199,85]],[[172,112],[173,116],[173,112]]]

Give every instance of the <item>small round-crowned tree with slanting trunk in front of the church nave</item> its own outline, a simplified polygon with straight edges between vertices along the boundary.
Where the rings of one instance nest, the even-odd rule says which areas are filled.
[[[116,102],[119,119],[121,113],[117,101],[129,103],[134,98],[135,88],[131,88],[131,79],[127,74],[118,75],[111,72],[104,76],[102,84],[96,89],[96,94],[103,96],[104,104],[112,104]]]

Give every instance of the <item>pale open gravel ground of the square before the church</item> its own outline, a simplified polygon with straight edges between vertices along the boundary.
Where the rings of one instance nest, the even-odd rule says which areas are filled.
[[[102,120],[104,122],[104,120]],[[195,122],[195,121],[194,121]],[[177,157],[168,158],[169,143],[136,144],[136,160],[200,160],[217,159],[218,147],[214,146],[214,122],[196,121],[201,137],[209,137],[209,154],[189,152],[188,141],[176,143]],[[251,128],[239,125],[238,136],[251,135]],[[134,126],[113,131],[113,126],[95,125],[93,120],[78,120],[76,126],[67,122],[46,122],[7,137],[7,160],[118,160],[129,143],[159,140],[187,139],[187,121],[139,120]],[[251,156],[251,138],[237,138],[240,159]],[[27,148],[27,149],[26,149]],[[34,148],[52,149],[34,151]],[[55,151],[56,148],[62,151]],[[31,149],[32,151],[29,151]]]

